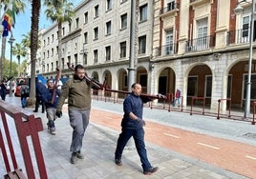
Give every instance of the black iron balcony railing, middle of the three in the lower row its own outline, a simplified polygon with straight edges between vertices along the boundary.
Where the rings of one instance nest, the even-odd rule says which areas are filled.
[[[186,42],[185,51],[201,51],[209,50],[215,46],[215,36],[205,36],[200,38],[195,38]]]

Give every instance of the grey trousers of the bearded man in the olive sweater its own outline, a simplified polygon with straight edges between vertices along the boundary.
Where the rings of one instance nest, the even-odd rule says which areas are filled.
[[[70,125],[73,128],[70,151],[77,152],[82,148],[85,129],[89,124],[90,109],[70,109]]]

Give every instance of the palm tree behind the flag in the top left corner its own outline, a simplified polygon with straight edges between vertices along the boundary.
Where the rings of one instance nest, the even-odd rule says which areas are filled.
[[[4,10],[7,9],[8,5],[11,3],[11,0],[3,0],[2,2],[4,5]],[[24,12],[26,8],[26,4],[22,2],[21,0],[13,0],[12,1],[12,10],[14,11],[15,14],[19,14],[21,12]],[[12,17],[12,21],[13,21]],[[5,67],[5,55],[6,55],[6,42],[7,42],[7,37],[2,37],[2,49],[1,49],[1,61],[0,61],[0,80],[3,78],[3,71]]]

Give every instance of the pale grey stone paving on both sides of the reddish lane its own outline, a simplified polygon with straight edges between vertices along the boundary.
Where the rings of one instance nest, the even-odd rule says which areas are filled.
[[[7,97],[7,102],[20,106],[20,98]],[[104,109],[105,112],[122,113],[122,106],[118,104],[93,102],[93,108]],[[28,109],[32,111],[33,109]],[[213,136],[221,136],[247,144],[255,145],[253,137],[246,137],[245,133],[253,133],[255,126],[236,121],[217,121],[204,116],[190,118],[188,114],[179,112],[165,112],[158,109],[145,109],[145,118],[161,124],[194,130]],[[45,114],[35,113],[43,120],[44,131],[40,132],[40,142],[43,149],[47,172],[50,179],[97,179],[97,178],[178,178],[178,179],[243,179],[245,176],[211,166],[202,161],[184,156],[170,149],[163,149],[146,142],[149,160],[153,166],[160,170],[151,176],[141,173],[139,156],[135,149],[125,149],[123,153],[123,166],[118,167],[114,162],[114,152],[117,144],[118,131],[109,129],[91,122],[84,137],[82,152],[85,159],[78,160],[76,165],[70,164],[70,143],[72,129],[69,126],[68,114],[63,109],[63,117],[55,122],[56,135],[47,131]],[[102,118],[104,116],[101,116]],[[196,120],[195,120],[196,118]],[[203,125],[202,125],[203,124]],[[1,125],[0,125],[1,127]],[[218,127],[218,128],[217,128]],[[243,128],[242,128],[243,127]],[[15,133],[13,131],[13,133]],[[4,175],[0,160],[0,176]],[[23,166],[21,168],[24,169]]]

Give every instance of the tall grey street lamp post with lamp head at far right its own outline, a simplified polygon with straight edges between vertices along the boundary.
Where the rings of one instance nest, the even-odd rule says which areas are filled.
[[[236,14],[244,10],[241,7],[241,3],[246,2],[243,0],[238,3],[234,12]],[[251,18],[250,18],[250,27],[249,27],[249,59],[248,59],[248,75],[247,75],[247,84],[246,84],[246,96],[245,96],[245,119],[249,118],[250,115],[250,92],[251,92],[251,66],[252,66],[252,52],[253,52],[253,31],[254,31],[254,10],[255,10],[255,0],[252,0],[251,4]]]

